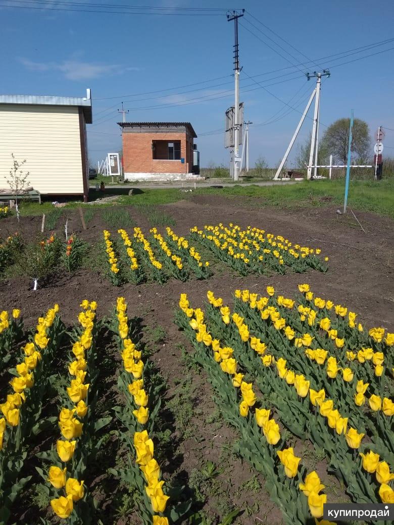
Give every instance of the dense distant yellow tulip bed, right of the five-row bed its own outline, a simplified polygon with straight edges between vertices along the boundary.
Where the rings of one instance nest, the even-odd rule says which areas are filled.
[[[284,274],[286,266],[295,272],[304,272],[309,268],[327,271],[328,257],[324,261],[318,257],[319,248],[313,249],[299,244],[292,244],[281,235],[274,236],[265,230],[248,226],[229,224],[229,227],[194,226],[190,230],[192,238],[200,241],[212,253],[234,268],[241,275],[249,273],[265,274],[267,270]]]

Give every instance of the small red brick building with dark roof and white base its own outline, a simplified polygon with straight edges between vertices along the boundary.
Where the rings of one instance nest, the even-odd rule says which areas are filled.
[[[122,128],[125,178],[139,181],[185,180],[193,175],[190,122],[118,122]]]

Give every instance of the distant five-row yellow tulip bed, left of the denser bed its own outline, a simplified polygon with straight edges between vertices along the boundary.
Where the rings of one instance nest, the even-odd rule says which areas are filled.
[[[186,281],[192,275],[206,279],[211,275],[209,261],[203,262],[189,241],[176,236],[170,228],[165,237],[157,228],[150,229],[149,238],[138,227],[134,228],[132,239],[125,229],[119,229],[118,234],[114,242],[110,232],[104,230],[102,246],[107,275],[115,286],[124,282],[138,285],[147,280],[164,283],[171,277]]]

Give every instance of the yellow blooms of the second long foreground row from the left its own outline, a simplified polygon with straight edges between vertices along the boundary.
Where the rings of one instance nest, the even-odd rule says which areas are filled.
[[[70,466],[70,461],[74,458],[78,438],[84,427],[81,420],[88,413],[88,404],[85,400],[90,385],[86,383],[86,375],[89,372],[89,354],[95,337],[97,303],[84,300],[80,306],[82,311],[79,313],[78,321],[82,330],[80,337],[72,344],[73,356],[68,364],[68,373],[75,379],[71,379],[66,388],[69,401],[59,413],[61,438],[56,442],[56,451],[60,466],[52,465],[48,471],[48,482],[56,490],[65,489],[65,496],[50,500],[53,511],[62,519],[70,516],[75,502],[85,495],[84,481],[78,480],[80,475],[78,467],[74,468],[72,476],[67,476],[67,466]]]

